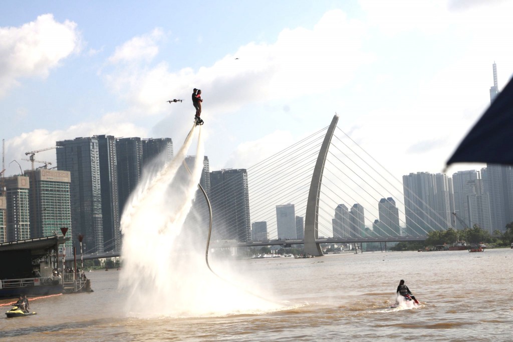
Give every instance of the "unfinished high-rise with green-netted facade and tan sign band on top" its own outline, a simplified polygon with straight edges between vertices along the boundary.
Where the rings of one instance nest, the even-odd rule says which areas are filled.
[[[25,171],[30,179],[30,236],[44,237],[61,234],[73,236],[71,224],[71,175],[69,171],[38,169]],[[73,239],[65,243],[67,255],[73,255]]]

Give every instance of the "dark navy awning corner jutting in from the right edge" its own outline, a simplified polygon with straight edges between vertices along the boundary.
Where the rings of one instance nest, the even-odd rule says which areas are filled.
[[[495,98],[447,161],[513,165],[513,82]]]

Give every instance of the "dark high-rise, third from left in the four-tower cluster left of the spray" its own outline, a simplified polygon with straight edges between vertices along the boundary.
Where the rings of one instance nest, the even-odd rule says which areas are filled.
[[[128,197],[141,180],[143,165],[143,143],[141,138],[117,138],[117,188],[119,190],[120,211],[123,215],[123,208]]]

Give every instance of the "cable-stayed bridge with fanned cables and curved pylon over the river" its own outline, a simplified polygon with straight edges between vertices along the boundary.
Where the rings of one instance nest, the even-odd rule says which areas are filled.
[[[422,241],[428,232],[452,226],[337,123],[335,115],[328,127],[208,189],[214,209],[210,247],[303,244],[305,253],[320,256],[321,244]],[[196,204],[193,211],[203,217],[197,224],[207,230],[201,195]],[[216,214],[223,204],[230,211]],[[251,233],[250,222],[253,230],[255,223],[265,227],[264,233]]]

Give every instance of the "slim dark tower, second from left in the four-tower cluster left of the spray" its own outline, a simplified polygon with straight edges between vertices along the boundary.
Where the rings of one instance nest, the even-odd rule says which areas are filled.
[[[96,135],[102,185],[102,216],[104,251],[121,250],[121,214],[117,186],[116,139],[112,135]]]

